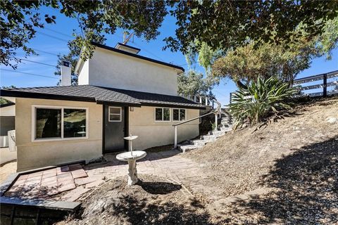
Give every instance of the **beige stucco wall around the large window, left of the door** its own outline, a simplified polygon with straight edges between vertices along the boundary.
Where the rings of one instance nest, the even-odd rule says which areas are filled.
[[[32,142],[32,105],[88,108],[88,139]],[[80,101],[17,98],[15,113],[18,171],[75,160],[91,160],[102,155],[102,105]]]

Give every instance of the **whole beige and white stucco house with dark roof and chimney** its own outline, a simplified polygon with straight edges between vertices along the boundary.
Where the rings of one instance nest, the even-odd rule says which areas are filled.
[[[94,46],[92,58],[77,62],[77,86],[70,86],[64,62],[61,86],[1,89],[15,102],[18,171],[127,150],[123,137],[130,134],[139,136],[137,150],[173,144],[173,124],[205,108],[177,95],[183,68],[139,56],[140,49],[125,44]],[[199,120],[177,132],[178,141],[198,136]]]

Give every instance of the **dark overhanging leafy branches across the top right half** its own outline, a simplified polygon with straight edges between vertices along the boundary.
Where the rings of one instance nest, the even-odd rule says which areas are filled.
[[[337,1],[170,1],[170,6],[177,30],[176,37],[165,38],[165,47],[183,53],[198,52],[204,43],[227,51],[248,40],[288,46],[300,24],[312,39],[338,13]]]

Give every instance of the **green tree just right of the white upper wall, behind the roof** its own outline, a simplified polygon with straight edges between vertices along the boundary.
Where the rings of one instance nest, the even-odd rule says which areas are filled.
[[[187,94],[209,94],[215,85],[212,77],[204,78],[204,75],[194,70],[181,74],[177,77],[178,92]]]

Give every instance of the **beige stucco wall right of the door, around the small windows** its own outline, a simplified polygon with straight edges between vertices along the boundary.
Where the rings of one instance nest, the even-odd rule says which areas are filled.
[[[199,110],[187,109],[187,120],[199,116]],[[173,117],[173,113],[171,113]],[[132,141],[137,150],[174,143],[174,127],[177,121],[155,122],[154,107],[134,108],[129,113],[129,133],[139,136]],[[188,122],[177,127],[177,141],[184,141],[199,136],[199,120]]]

